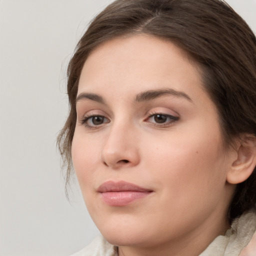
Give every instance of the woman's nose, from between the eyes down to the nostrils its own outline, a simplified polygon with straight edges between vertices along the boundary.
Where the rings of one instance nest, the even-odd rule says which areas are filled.
[[[102,148],[103,163],[114,169],[137,165],[139,152],[136,137],[134,128],[125,124],[113,125]]]

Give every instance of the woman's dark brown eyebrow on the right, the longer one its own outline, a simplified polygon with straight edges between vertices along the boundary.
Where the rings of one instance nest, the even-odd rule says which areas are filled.
[[[185,92],[178,91],[175,89],[170,89],[170,88],[142,91],[139,94],[137,94],[137,96],[135,97],[135,102],[151,100],[164,95],[173,95],[177,97],[182,97],[193,102],[193,100]]]

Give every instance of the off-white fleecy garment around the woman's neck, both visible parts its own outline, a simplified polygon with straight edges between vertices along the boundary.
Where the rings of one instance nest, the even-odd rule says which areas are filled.
[[[117,255],[117,247],[100,235],[71,256]],[[234,219],[225,235],[217,236],[199,256],[256,256],[256,213],[249,211]]]

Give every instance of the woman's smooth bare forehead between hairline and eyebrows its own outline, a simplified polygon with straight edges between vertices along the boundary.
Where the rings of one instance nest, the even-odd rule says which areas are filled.
[[[146,34],[114,38],[96,47],[84,63],[78,94],[129,92],[168,87],[202,90],[197,65],[172,42]],[[197,87],[195,89],[195,87]]]

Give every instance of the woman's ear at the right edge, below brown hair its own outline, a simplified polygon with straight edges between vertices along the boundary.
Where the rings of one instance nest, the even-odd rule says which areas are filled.
[[[237,149],[226,180],[231,184],[238,184],[246,180],[256,165],[256,137],[243,135],[236,143]]]

